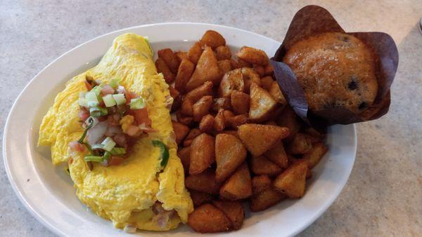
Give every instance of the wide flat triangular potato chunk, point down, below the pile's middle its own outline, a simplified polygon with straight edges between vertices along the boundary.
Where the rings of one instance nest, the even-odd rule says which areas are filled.
[[[238,134],[252,156],[261,156],[289,134],[288,128],[248,123],[239,126]]]

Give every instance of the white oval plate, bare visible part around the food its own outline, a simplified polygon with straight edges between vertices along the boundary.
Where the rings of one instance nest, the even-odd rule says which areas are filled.
[[[280,43],[242,29],[198,23],[164,23],[122,29],[73,48],[51,62],[30,81],[13,104],[4,130],[3,156],[8,178],[25,207],[51,231],[65,236],[126,235],[111,222],[88,212],[75,196],[63,168],[51,164],[49,148],[37,148],[41,118],[63,90],[65,81],[93,67],[113,39],[126,32],[148,36],[153,48],[187,50],[207,29],[220,32],[234,50],[247,45],[274,55]],[[345,186],[356,156],[353,125],[328,130],[329,151],[313,170],[305,196],[283,201],[269,210],[247,213],[239,231],[224,236],[291,236],[314,222]],[[140,231],[138,235],[191,236],[187,226],[166,233]],[[217,234],[216,234],[217,235]]]

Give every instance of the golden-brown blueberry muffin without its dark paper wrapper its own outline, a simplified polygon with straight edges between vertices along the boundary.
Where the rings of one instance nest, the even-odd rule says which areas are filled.
[[[375,100],[374,55],[352,35],[328,32],[303,39],[283,62],[295,73],[312,111],[342,107],[360,113]]]

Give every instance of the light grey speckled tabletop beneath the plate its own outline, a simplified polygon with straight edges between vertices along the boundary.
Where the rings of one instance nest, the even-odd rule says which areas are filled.
[[[156,22],[207,22],[282,41],[293,15],[319,4],[346,31],[387,32],[399,49],[390,112],[357,125],[357,159],[340,196],[299,236],[422,233],[420,1],[0,1],[0,127],[13,101],[56,57],[101,34]],[[1,138],[3,136],[1,135]],[[0,139],[1,139],[0,138]],[[0,143],[1,146],[1,143]],[[0,165],[0,236],[53,236],[13,193]]]

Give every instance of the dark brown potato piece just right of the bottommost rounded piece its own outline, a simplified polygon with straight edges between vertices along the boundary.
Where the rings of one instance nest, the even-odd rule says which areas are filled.
[[[212,204],[229,217],[233,229],[241,229],[243,220],[245,219],[245,211],[243,210],[241,203],[231,201],[212,201]]]

